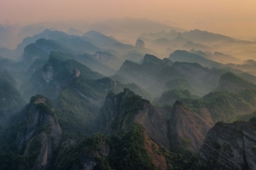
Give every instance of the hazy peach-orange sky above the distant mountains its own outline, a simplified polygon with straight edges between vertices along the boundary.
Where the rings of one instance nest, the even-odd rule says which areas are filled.
[[[255,0],[0,0],[0,23],[146,18],[230,37],[256,37]]]

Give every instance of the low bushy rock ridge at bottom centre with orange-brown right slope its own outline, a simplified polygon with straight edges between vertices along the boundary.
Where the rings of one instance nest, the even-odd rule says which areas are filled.
[[[143,127],[138,124],[133,124],[131,129],[118,135],[105,137],[96,133],[91,138],[74,144],[72,148],[63,146],[61,148],[61,154],[55,161],[54,169],[56,170],[126,168],[167,170],[167,168],[177,166],[177,162],[174,161],[176,155],[160,148],[158,144],[148,139]],[[70,159],[70,156],[73,158]],[[183,165],[177,167],[179,166]]]

